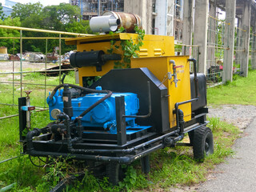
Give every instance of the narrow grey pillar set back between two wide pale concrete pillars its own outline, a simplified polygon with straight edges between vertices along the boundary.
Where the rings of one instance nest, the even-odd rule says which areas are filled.
[[[206,61],[206,68],[209,69],[210,66],[214,66],[214,58],[215,58],[215,48],[213,46],[216,46],[216,22],[214,18],[216,18],[216,2],[210,3],[210,10],[209,10],[209,15],[213,18],[209,18],[209,29],[208,29],[208,47],[207,47],[207,61]]]

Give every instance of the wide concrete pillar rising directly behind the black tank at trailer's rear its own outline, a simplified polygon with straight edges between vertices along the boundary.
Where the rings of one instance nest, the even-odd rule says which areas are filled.
[[[209,0],[194,1],[194,45],[199,46],[198,72],[206,74]]]

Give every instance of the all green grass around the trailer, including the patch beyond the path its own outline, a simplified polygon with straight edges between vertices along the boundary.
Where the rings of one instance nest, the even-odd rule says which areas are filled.
[[[234,82],[226,86],[219,86],[208,90],[208,101],[210,104],[250,104],[255,105],[254,99],[246,100],[242,95],[250,95],[250,91],[255,90],[256,72],[250,71],[249,78],[237,78]],[[48,81],[49,80],[49,81]],[[24,77],[24,81],[41,83],[45,81],[42,74],[29,74]],[[70,74],[65,82],[74,83],[74,74]],[[48,78],[47,84],[58,84],[58,78]],[[13,89],[10,85],[1,84],[2,92],[0,98],[2,101],[12,102],[10,91]],[[247,89],[244,89],[246,88]],[[27,89],[38,89],[38,86],[26,86]],[[15,87],[16,89],[16,87]],[[47,87],[52,90],[53,87]],[[243,92],[242,92],[243,91]],[[238,92],[240,93],[238,96]],[[231,94],[233,93],[233,94]],[[19,91],[15,90],[15,99],[19,97]],[[6,96],[7,95],[7,96]],[[254,95],[252,95],[253,97]],[[33,105],[42,105],[44,103],[45,91],[35,91],[31,94],[31,103]],[[239,99],[237,99],[237,97]],[[221,100],[221,101],[218,101]],[[256,100],[256,99],[255,99]],[[0,115],[17,114],[17,107],[1,106]],[[32,114],[32,126],[46,126],[49,121],[49,112],[44,111]],[[237,127],[220,121],[219,118],[208,118],[209,127],[214,134],[214,154],[207,157],[205,162],[198,163],[193,160],[193,152],[190,147],[178,146],[175,148],[166,148],[158,150],[150,155],[151,171],[144,175],[141,172],[140,162],[134,162],[126,167],[126,178],[118,186],[111,186],[107,178],[94,178],[86,168],[85,177],[73,186],[68,186],[66,191],[155,191],[158,189],[170,191],[173,187],[190,186],[198,182],[204,182],[209,170],[220,162],[225,162],[225,158],[234,154],[231,149],[235,139],[240,135]],[[0,124],[0,162],[20,154],[18,142],[18,117],[1,120]],[[185,141],[188,138],[186,136]],[[40,164],[37,158],[33,158],[34,163]],[[66,160],[52,160],[47,168],[38,168],[30,163],[29,158],[20,156],[12,161],[0,164],[0,189],[14,182],[17,184],[12,191],[46,191],[50,190],[62,177],[70,172],[76,173],[78,170]]]

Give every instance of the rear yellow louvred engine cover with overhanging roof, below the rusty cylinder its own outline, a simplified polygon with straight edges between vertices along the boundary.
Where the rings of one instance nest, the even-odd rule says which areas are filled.
[[[111,40],[115,40],[115,45],[119,46],[122,40],[133,39],[134,42],[137,42],[137,38],[138,34],[102,34],[84,38],[66,39],[66,44],[77,45],[77,50],[80,52],[103,50],[107,54],[107,50],[110,50]],[[114,54],[123,54],[122,47],[119,46],[118,50],[114,49]],[[146,34],[143,40],[143,46],[138,51],[138,55],[140,58],[174,55],[174,37]],[[96,71],[95,66],[79,68],[80,85],[82,86],[82,77],[102,76],[113,68],[114,61],[106,62],[102,66],[102,71]]]

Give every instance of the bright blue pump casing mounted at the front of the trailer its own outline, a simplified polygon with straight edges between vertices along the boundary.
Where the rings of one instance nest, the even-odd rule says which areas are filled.
[[[101,87],[97,87],[97,89],[101,90]],[[60,92],[57,91],[53,99],[47,98],[50,120],[54,120],[51,116],[52,110],[58,109],[63,112],[62,92],[63,90],[60,90]],[[86,94],[84,97],[72,98],[71,102],[74,116],[71,117],[71,119],[74,120],[74,118],[77,118],[83,111],[105,95],[106,94]],[[138,114],[139,101],[137,94],[116,93],[112,94],[111,97],[107,98],[104,102],[98,104],[93,110],[90,110],[90,112],[82,118],[82,126],[103,127],[106,130],[116,130],[115,98],[120,96],[124,96],[125,98],[126,115]],[[127,126],[136,126],[134,120],[135,118],[126,118]]]

